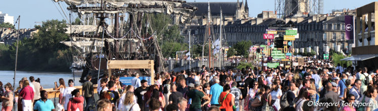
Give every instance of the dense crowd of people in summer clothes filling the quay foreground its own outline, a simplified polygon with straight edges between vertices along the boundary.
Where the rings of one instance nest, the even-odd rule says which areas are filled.
[[[47,92],[30,77],[23,78],[16,90],[7,83],[1,88],[3,109],[12,110],[13,95],[18,110],[378,110],[378,69],[333,66],[331,61],[315,61],[296,67],[241,70],[207,69],[156,73],[153,85],[140,80],[122,86],[117,75],[98,80],[94,93],[91,76],[82,91],[59,79],[59,103],[47,99]],[[0,85],[3,84],[0,82]],[[99,95],[94,100],[94,95]],[[91,103],[91,101],[94,101]],[[85,102],[85,104],[84,104]]]

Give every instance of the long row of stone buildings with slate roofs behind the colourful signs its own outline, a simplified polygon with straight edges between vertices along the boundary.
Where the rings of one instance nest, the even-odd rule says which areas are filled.
[[[348,12],[348,13],[347,13]],[[318,47],[317,53],[325,53],[323,48],[329,47],[334,50],[343,50],[344,53],[349,53],[350,45],[353,40],[345,39],[345,22],[344,16],[350,11],[343,11],[341,14],[327,14],[327,15],[305,15],[301,17],[287,17],[284,19],[277,19],[276,15],[272,16],[273,12],[262,12],[257,18],[239,19],[239,20],[225,20],[223,28],[223,46],[233,46],[239,41],[249,40],[253,44],[266,44],[263,39],[265,29],[273,27],[277,24],[291,25],[293,28],[298,28],[299,39],[294,41],[294,48],[311,47],[315,50]],[[212,24],[211,32],[214,33],[213,40],[219,37],[219,25]],[[203,26],[190,26],[191,34],[194,39],[198,40],[199,44],[203,40],[207,41],[207,28]],[[183,34],[187,34],[186,31]],[[227,44],[226,44],[227,43]],[[340,47],[340,48],[339,48]],[[315,50],[316,51],[316,50]]]

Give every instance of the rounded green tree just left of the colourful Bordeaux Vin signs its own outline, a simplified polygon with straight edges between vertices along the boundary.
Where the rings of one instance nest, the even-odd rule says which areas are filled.
[[[234,49],[236,51],[235,55],[243,55],[244,57],[248,57],[248,49],[251,46],[251,41],[239,41],[234,45]]]

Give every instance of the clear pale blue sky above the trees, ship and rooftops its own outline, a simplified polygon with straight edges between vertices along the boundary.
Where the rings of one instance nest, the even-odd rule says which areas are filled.
[[[209,0],[210,2],[237,2],[237,0]],[[242,1],[242,0],[240,0]],[[245,0],[243,0],[245,2]],[[274,11],[277,0],[248,0],[249,16],[256,17],[262,11]],[[323,13],[331,13],[332,10],[356,9],[366,4],[375,2],[373,0],[323,0]],[[188,0],[187,2],[194,2]],[[207,2],[206,0],[196,0],[195,2]],[[62,9],[66,10],[67,4],[60,2]],[[34,28],[34,25],[42,21],[58,19],[63,20],[64,14],[60,14],[61,7],[51,0],[2,0],[0,2],[0,12],[9,16],[21,16],[20,28]],[[62,11],[61,11],[62,12]]]

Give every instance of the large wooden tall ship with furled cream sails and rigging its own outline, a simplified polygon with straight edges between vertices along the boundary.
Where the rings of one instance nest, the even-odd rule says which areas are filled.
[[[75,14],[84,23],[70,25],[69,41],[62,41],[73,49],[72,69],[82,69],[80,82],[92,75],[92,83],[107,74],[109,60],[154,60],[155,72],[166,71],[164,57],[156,41],[156,32],[149,14],[164,13],[179,17],[184,23],[196,7],[182,7],[185,1],[175,0],[53,0],[68,5],[70,14]],[[74,15],[74,16],[75,16]],[[125,20],[125,21],[124,21]],[[70,16],[71,21],[71,16]],[[85,22],[86,21],[86,22]],[[72,22],[70,22],[72,23]],[[77,63],[77,64],[76,64]],[[147,71],[136,70],[140,74]],[[113,74],[136,72],[128,69],[113,70]],[[151,74],[148,74],[151,75]]]

